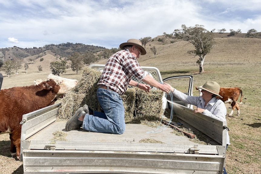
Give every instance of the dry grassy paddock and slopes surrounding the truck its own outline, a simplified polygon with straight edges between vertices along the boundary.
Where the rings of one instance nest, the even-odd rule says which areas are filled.
[[[162,78],[174,75],[193,75],[194,87],[203,85],[207,80],[216,81],[221,87],[240,87],[243,90],[243,101],[240,105],[240,116],[227,117],[230,128],[230,143],[226,154],[226,170],[229,174],[261,173],[261,39],[249,38],[216,38],[216,47],[207,54],[204,62],[205,73],[199,74],[197,57],[187,54],[193,49],[186,42],[174,44],[146,45],[147,54],[138,61],[141,66],[157,67]],[[154,41],[155,42],[155,41]],[[150,47],[157,48],[156,57]],[[97,62],[104,64],[106,61]],[[30,85],[33,80],[46,78],[50,72],[37,72],[28,69],[28,73],[19,73],[4,77],[2,88]],[[62,77],[79,80],[81,74],[68,70]],[[174,86],[175,87],[175,86]],[[198,95],[194,90],[193,95]],[[229,104],[226,104],[230,112]],[[0,173],[21,174],[22,162],[11,158],[9,154],[10,140],[8,134],[0,135]]]

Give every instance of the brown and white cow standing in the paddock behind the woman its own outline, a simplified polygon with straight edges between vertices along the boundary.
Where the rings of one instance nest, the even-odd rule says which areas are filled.
[[[196,90],[199,91],[199,95],[201,96],[202,95],[201,89],[196,87]],[[240,94],[241,94],[240,102],[237,102]],[[224,103],[230,103],[230,105],[231,105],[231,111],[228,114],[229,117],[232,117],[232,114],[233,114],[235,108],[237,110],[236,115],[240,114],[239,104],[242,103],[242,97],[243,97],[241,88],[239,88],[239,87],[220,87],[219,95],[222,96],[223,98],[220,98],[218,96],[216,96],[216,98],[222,100]]]

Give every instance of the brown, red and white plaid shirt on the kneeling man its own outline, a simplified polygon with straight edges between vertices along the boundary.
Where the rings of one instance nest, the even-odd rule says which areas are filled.
[[[127,90],[133,75],[139,80],[145,77],[136,57],[127,49],[121,50],[108,59],[98,85],[110,87],[121,95]]]

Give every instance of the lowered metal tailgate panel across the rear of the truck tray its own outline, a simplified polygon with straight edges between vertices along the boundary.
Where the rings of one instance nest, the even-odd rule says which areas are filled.
[[[38,153],[41,153],[41,155]],[[220,174],[223,170],[225,158],[219,155],[120,153],[114,151],[81,150],[24,150],[23,156],[24,174]]]

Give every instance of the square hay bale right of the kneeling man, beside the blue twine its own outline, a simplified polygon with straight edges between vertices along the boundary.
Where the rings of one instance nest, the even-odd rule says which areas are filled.
[[[164,113],[162,108],[163,91],[151,90],[149,93],[144,90],[136,90],[135,120],[156,121],[161,120]]]

